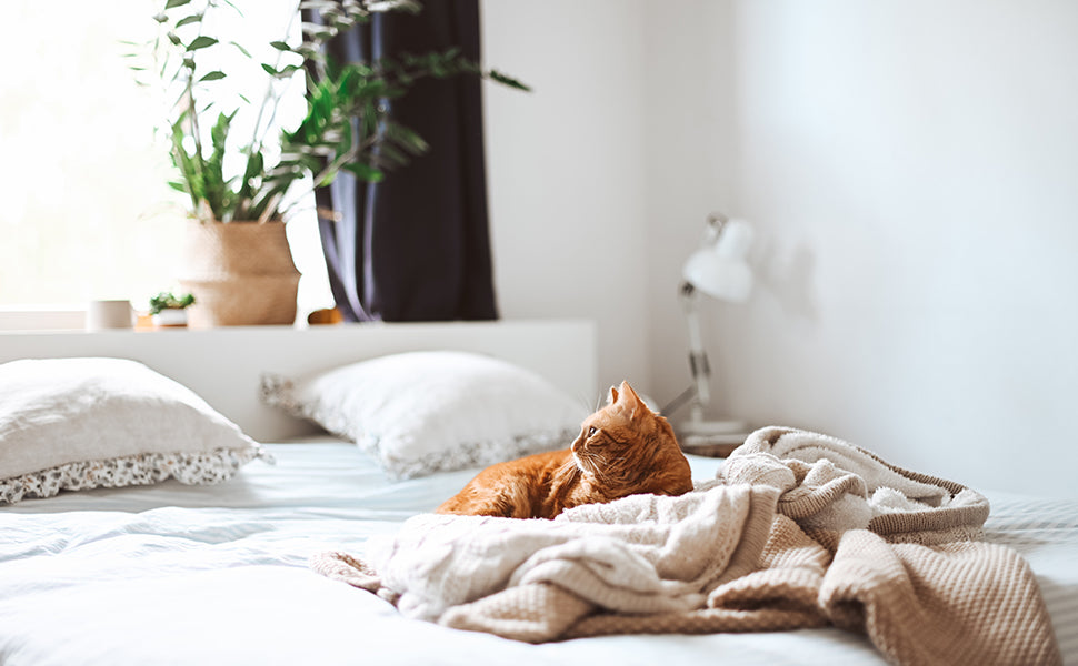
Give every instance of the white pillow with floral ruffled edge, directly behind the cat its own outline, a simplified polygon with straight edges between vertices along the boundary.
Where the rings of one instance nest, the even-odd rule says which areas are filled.
[[[356,442],[396,478],[563,448],[587,416],[586,405],[530,371],[448,351],[380,356],[297,381],[263,375],[262,398]]]

